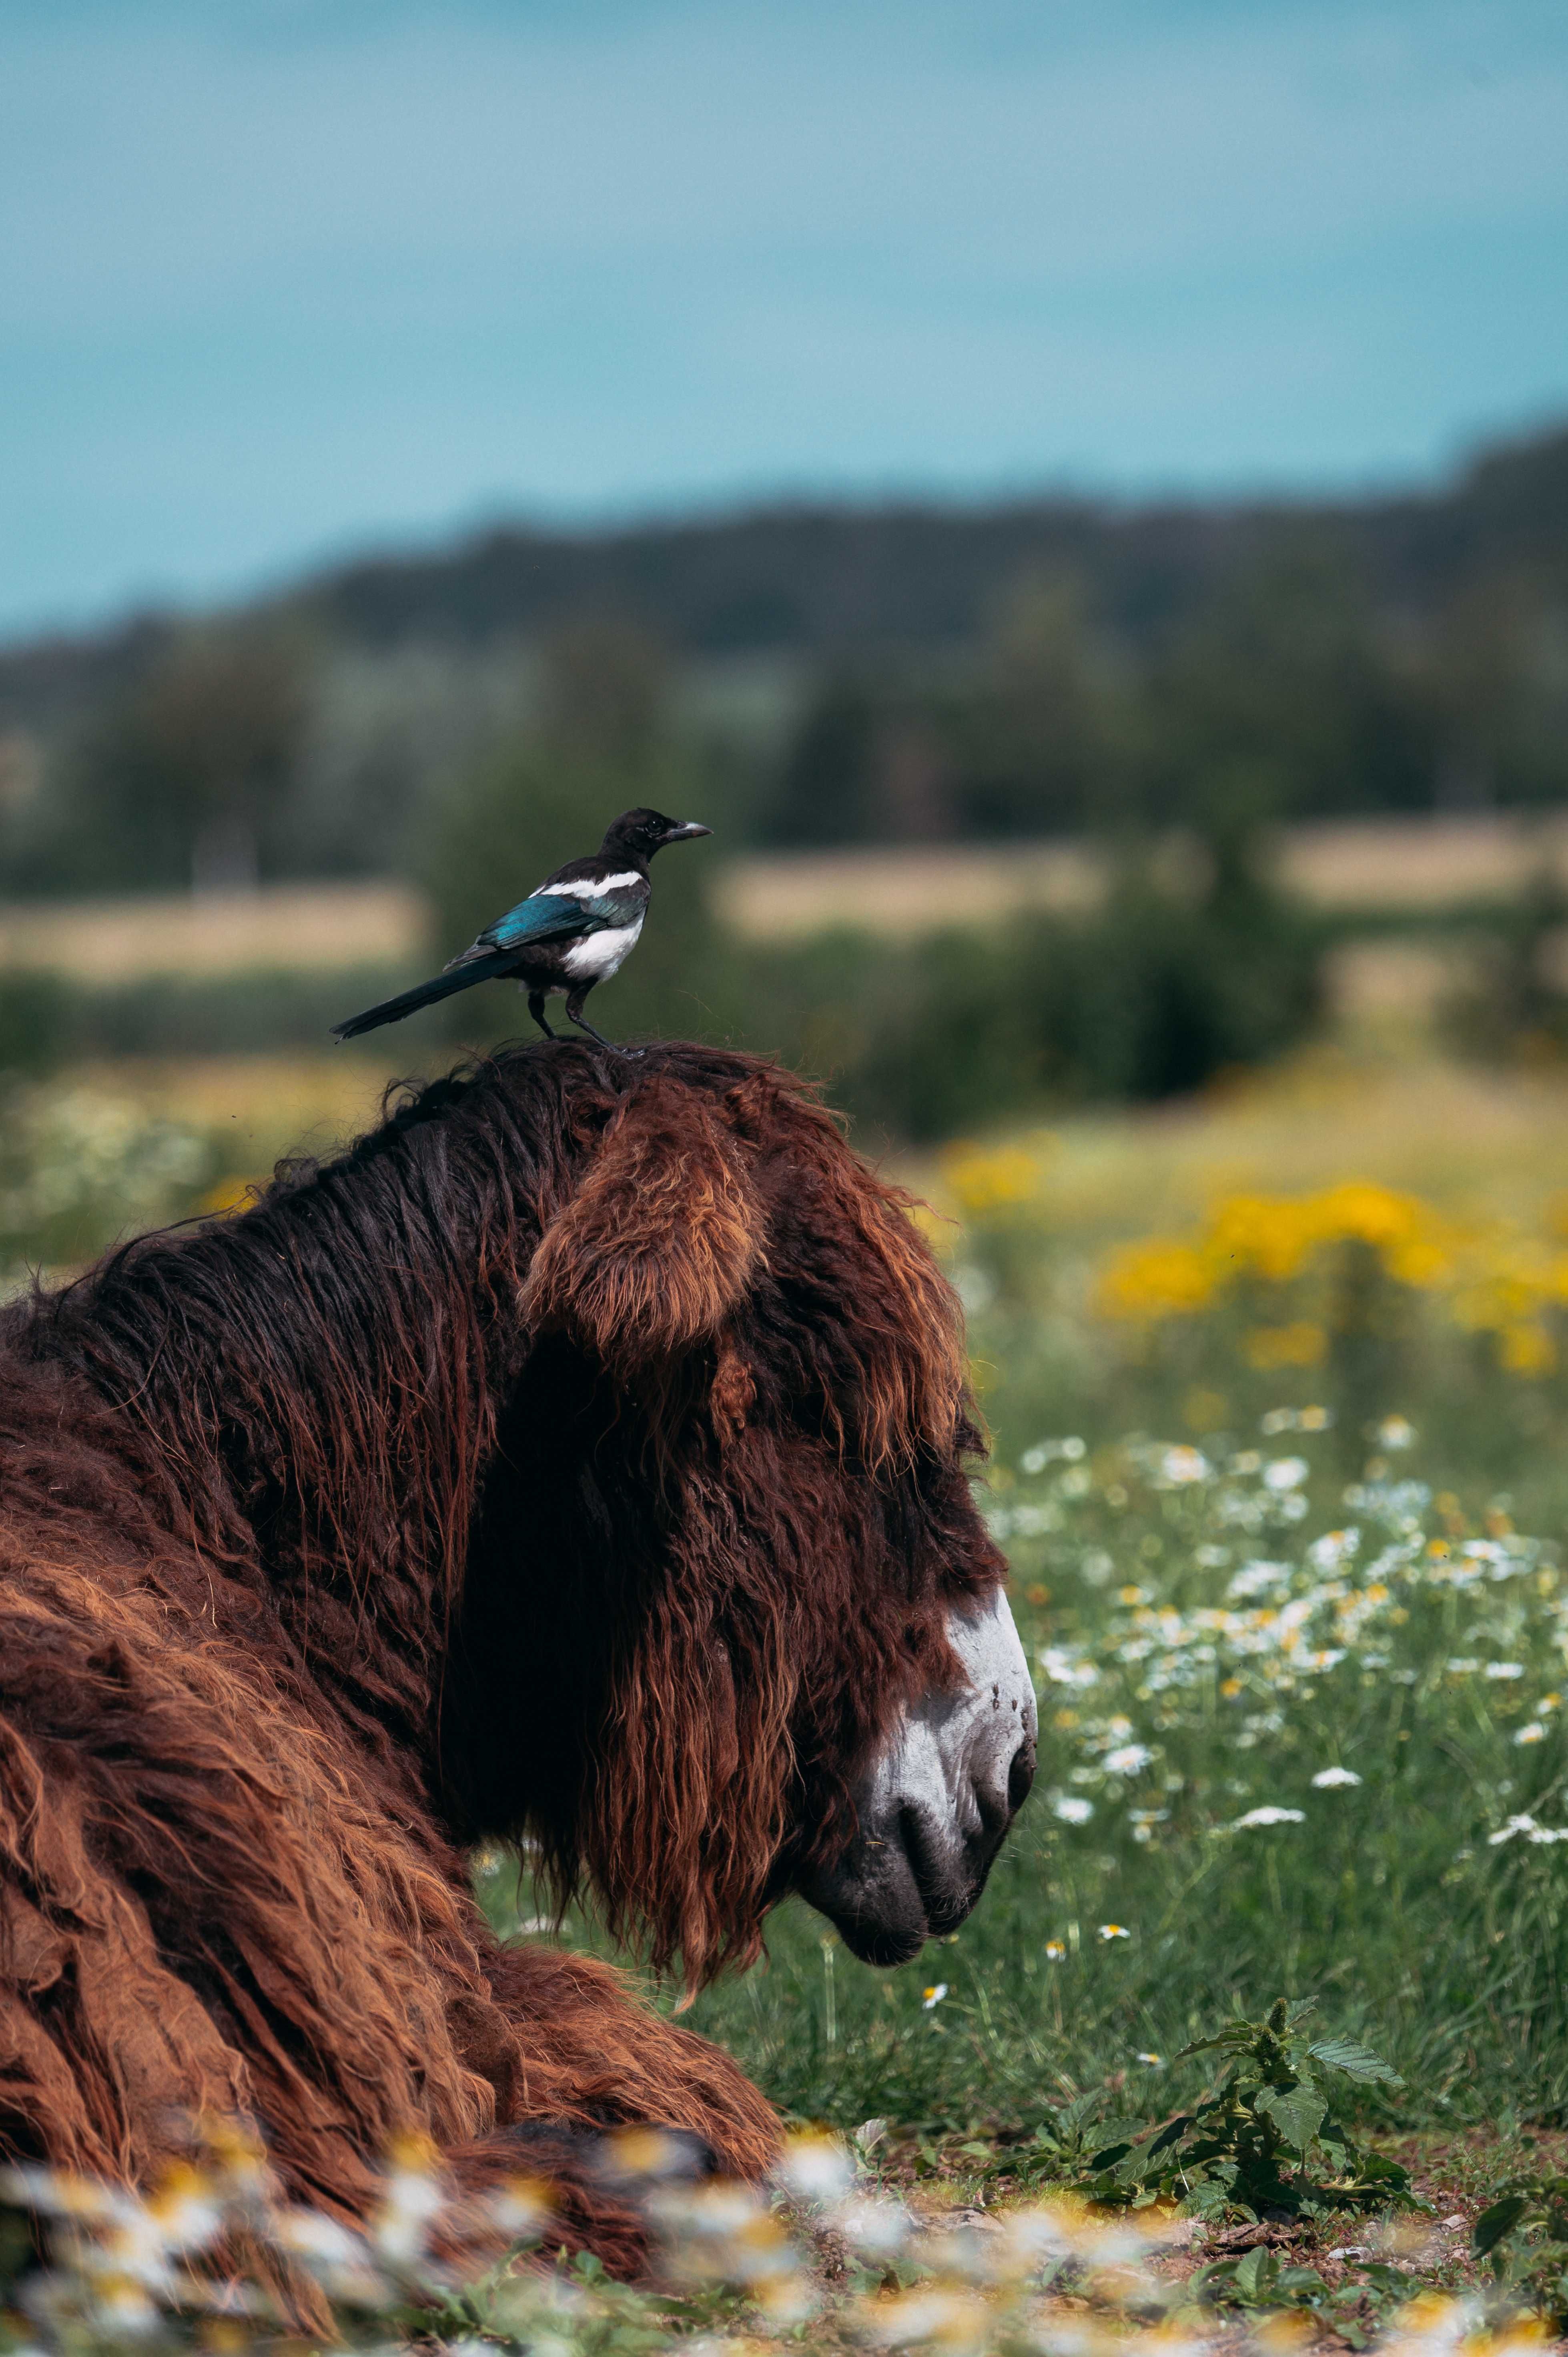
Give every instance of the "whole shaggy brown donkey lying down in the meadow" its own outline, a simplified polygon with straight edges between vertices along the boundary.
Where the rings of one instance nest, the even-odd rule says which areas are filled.
[[[1033,1772],[960,1322],[788,1075],[582,1044],[398,1103],[255,1209],[0,1320],[0,2152],[144,2180],[259,2121],[356,2211],[398,2131],[755,2176],[776,2119],[608,1968],[500,1947],[465,1846],[691,1985],[804,1890],[962,1921]]]

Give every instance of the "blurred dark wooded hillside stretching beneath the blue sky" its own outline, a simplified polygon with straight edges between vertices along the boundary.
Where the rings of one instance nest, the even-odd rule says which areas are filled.
[[[12,646],[0,893],[417,870],[564,665],[663,698],[733,846],[1563,801],[1568,429],[1398,497],[495,528]]]

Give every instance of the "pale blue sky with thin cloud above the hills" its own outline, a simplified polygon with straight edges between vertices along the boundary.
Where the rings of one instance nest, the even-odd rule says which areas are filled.
[[[1561,0],[0,0],[0,629],[1568,412]]]

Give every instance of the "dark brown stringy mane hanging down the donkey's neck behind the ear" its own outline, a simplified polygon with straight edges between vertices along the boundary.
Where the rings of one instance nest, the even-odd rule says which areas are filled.
[[[61,1450],[68,1424],[130,1454],[153,1523],[217,1577],[264,1579],[351,1716],[408,1730],[431,1704],[431,1626],[462,1574],[523,1275],[573,1162],[651,1077],[722,1091],[755,1072],[698,1047],[632,1061],[571,1042],[394,1084],[344,1153],[281,1164],[241,1216],[35,1289],[0,1341],[101,1402],[87,1433],[80,1400],[61,1409]]]

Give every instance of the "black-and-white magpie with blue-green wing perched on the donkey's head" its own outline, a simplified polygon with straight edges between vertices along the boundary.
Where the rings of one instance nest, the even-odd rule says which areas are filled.
[[[450,999],[472,983],[516,981],[528,992],[528,1014],[547,1039],[559,1035],[545,1021],[545,999],[564,997],[568,1021],[599,1047],[608,1047],[604,1032],[597,1032],[582,1014],[582,999],[594,983],[618,973],[637,948],[648,912],[653,853],[693,834],[712,834],[712,827],[700,827],[696,818],[663,818],[660,811],[625,811],[604,830],[604,841],[589,858],[556,867],[429,983],[417,983],[396,999],[365,1006],[363,1016],[335,1023],[335,1037],[358,1039],[382,1023],[401,1023],[420,1006]]]

